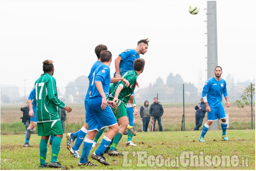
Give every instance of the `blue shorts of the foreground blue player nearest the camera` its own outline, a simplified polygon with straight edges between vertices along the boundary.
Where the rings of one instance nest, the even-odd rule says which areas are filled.
[[[86,120],[88,121],[88,131],[99,130],[117,124],[112,109],[107,104],[106,109],[101,109],[102,98],[92,98],[88,101],[88,111]]]

